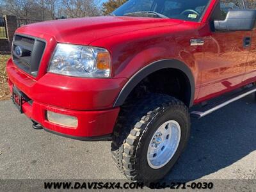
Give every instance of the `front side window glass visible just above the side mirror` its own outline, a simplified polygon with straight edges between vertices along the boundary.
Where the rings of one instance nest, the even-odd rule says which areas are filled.
[[[220,9],[221,18],[225,19],[228,11],[244,9],[243,0],[220,0]]]

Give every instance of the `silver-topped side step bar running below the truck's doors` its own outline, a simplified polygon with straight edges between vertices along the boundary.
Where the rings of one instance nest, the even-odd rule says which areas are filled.
[[[211,104],[209,106],[205,106],[204,108],[201,108],[200,111],[192,111],[190,113],[190,115],[193,118],[202,118],[206,115],[209,115],[213,111],[216,111],[220,108],[223,108],[223,107],[227,106],[228,104],[230,104],[230,103],[232,103],[236,100],[239,100],[243,97],[246,97],[247,95],[250,95],[251,93],[254,93],[254,92],[256,92],[256,86],[253,86],[251,88],[246,88],[242,92],[235,93],[234,95],[228,97],[225,100],[222,100],[220,102],[216,102],[216,103]]]

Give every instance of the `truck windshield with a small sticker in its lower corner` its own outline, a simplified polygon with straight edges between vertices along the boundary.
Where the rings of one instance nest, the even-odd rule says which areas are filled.
[[[199,21],[209,1],[129,0],[112,14],[127,17],[156,17]]]

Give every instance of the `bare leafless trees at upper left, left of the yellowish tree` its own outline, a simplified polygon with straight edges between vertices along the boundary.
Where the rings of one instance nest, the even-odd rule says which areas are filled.
[[[0,0],[0,15],[35,20],[91,17],[101,13],[96,1],[99,0]]]

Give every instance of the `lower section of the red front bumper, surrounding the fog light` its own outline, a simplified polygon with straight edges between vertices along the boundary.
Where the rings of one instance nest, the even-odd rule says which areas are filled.
[[[26,102],[22,110],[31,118],[44,127],[45,131],[60,134],[77,140],[107,140],[113,131],[119,108],[102,111],[74,111],[56,108],[46,104]],[[53,111],[63,115],[76,116],[78,125],[76,128],[53,124],[46,118],[46,111]]]

